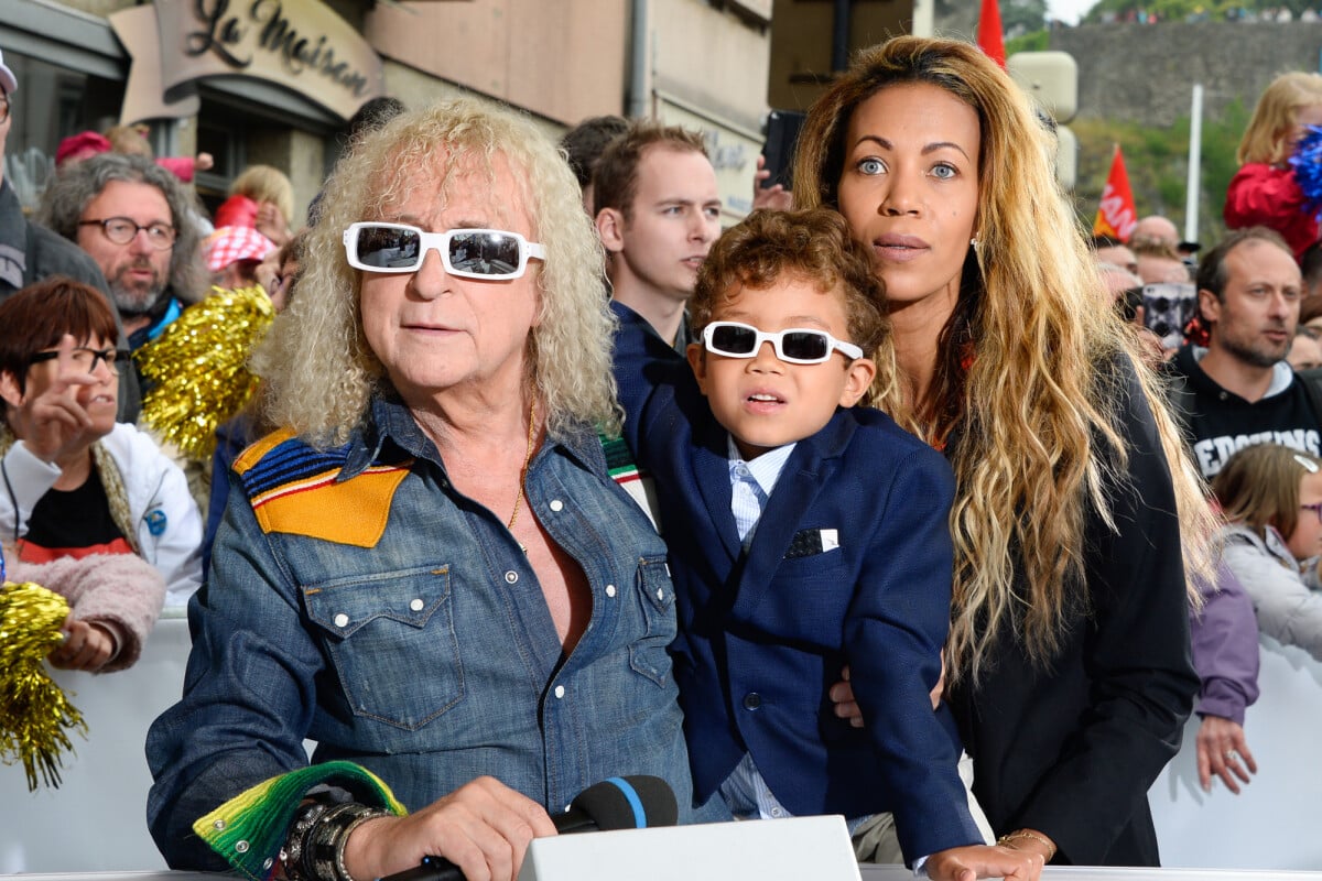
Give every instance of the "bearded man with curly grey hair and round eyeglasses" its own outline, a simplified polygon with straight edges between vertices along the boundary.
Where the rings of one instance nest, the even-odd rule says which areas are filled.
[[[194,198],[141,156],[102,153],[62,170],[41,221],[100,267],[136,350],[206,293]]]

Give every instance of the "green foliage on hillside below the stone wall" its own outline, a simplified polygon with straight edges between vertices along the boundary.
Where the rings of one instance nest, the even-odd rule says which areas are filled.
[[[1204,243],[1216,242],[1225,231],[1222,211],[1225,188],[1239,165],[1235,148],[1248,125],[1249,110],[1241,100],[1228,104],[1215,119],[1203,115],[1200,156],[1202,193],[1198,209],[1198,235]],[[1076,119],[1069,124],[1079,139],[1079,172],[1075,205],[1091,229],[1101,201],[1101,188],[1110,173],[1113,147],[1125,156],[1129,186],[1138,217],[1162,214],[1185,229],[1185,190],[1188,178],[1188,119],[1169,128],[1144,128],[1129,122]]]

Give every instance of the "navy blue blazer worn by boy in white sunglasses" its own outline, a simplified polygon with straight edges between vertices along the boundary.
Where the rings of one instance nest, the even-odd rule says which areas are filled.
[[[727,432],[689,365],[612,309],[624,435],[656,481],[677,590],[694,795],[748,752],[793,814],[892,811],[911,863],[981,843],[958,736],[929,697],[951,616],[949,465],[879,411],[837,409],[795,448],[744,553]],[[826,693],[846,663],[862,729]]]

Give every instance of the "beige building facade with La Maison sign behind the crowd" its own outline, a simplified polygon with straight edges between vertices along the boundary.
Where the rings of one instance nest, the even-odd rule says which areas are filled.
[[[0,0],[5,177],[32,207],[61,139],[145,124],[157,156],[214,157],[208,203],[262,162],[301,222],[358,106],[472,94],[553,136],[603,114],[701,129],[730,223],[751,207],[771,24],[771,0]]]

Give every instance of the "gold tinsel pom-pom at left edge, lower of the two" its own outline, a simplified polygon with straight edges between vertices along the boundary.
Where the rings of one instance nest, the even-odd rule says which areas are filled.
[[[59,786],[61,753],[74,749],[69,732],[87,734],[82,713],[45,667],[67,617],[65,598],[40,585],[5,581],[0,589],[0,761],[22,762],[29,791],[37,771],[46,786]]]

